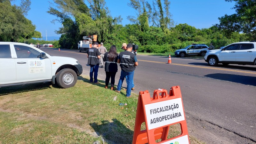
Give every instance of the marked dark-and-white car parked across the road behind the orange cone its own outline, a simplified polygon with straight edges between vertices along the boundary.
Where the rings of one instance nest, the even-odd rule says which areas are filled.
[[[176,50],[174,54],[183,58],[186,55],[204,56],[208,51],[209,47],[206,44],[191,44],[183,49]]]

